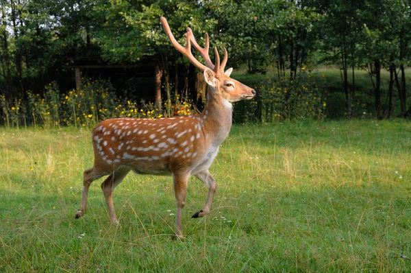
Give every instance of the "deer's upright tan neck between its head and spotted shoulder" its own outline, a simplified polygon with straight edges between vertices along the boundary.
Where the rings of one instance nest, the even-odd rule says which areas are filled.
[[[232,127],[232,104],[215,93],[210,88],[206,106],[200,116],[207,139],[213,145],[220,145]]]

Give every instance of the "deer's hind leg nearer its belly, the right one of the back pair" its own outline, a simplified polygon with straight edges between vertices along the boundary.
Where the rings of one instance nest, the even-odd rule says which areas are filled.
[[[113,204],[113,191],[123,181],[125,176],[129,173],[130,169],[116,169],[108,178],[101,183],[101,189],[104,193],[105,203],[108,208],[108,215],[112,224],[119,224],[119,220],[116,217],[116,211],[114,211]]]

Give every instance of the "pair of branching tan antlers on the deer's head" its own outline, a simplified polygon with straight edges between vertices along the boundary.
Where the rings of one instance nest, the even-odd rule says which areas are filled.
[[[186,47],[183,47],[180,45],[177,40],[175,40],[173,33],[171,32],[169,23],[167,23],[167,20],[164,17],[161,17],[161,23],[164,27],[164,30],[169,37],[171,43],[177,49],[179,52],[181,52],[184,56],[190,60],[192,64],[194,64],[197,68],[201,69],[202,71],[205,70],[206,68],[212,69],[214,73],[224,73],[224,67],[225,64],[227,63],[227,49],[224,49],[224,58],[223,62],[220,65],[220,56],[219,52],[217,51],[217,48],[214,47],[214,54],[216,56],[216,64],[213,64],[211,61],[211,58],[208,54],[208,51],[210,49],[210,41],[208,39],[208,34],[206,33],[206,47],[200,47],[197,41],[195,40],[194,34],[192,34],[192,30],[190,27],[187,28],[187,33],[184,34],[184,36],[187,38],[187,45]],[[193,55],[191,52],[191,43],[199,51],[201,56],[203,56],[204,60],[206,60],[207,66],[204,64],[201,64]]]

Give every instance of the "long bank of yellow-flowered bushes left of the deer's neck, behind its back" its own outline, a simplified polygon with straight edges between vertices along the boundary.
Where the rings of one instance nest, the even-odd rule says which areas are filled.
[[[41,126],[58,128],[60,126],[90,127],[97,122],[115,117],[163,117],[152,102],[142,100],[139,104],[127,98],[118,98],[110,82],[105,80],[82,80],[79,91],[61,94],[58,84],[51,82],[45,86],[43,95],[26,93],[26,98],[16,99],[10,105],[4,95],[0,95],[0,114],[6,127]],[[168,104],[167,104],[168,105]],[[164,104],[166,106],[166,104]],[[192,104],[176,102],[171,104],[175,115],[190,115]]]

